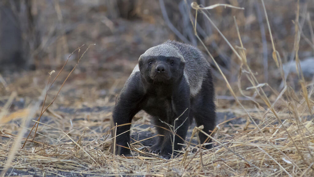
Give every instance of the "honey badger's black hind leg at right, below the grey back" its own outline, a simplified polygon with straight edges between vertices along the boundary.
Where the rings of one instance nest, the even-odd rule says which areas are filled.
[[[197,126],[203,125],[203,131],[207,134],[211,134],[211,131],[213,131],[216,126],[216,113],[214,103],[214,86],[210,70],[208,70],[207,77],[203,80],[201,90],[194,98],[192,111],[194,113],[193,117],[195,118]],[[208,136],[202,132],[199,132],[198,135],[202,144],[208,138]],[[210,142],[212,142],[212,140],[208,138],[206,143]],[[212,144],[206,145],[205,148],[212,148]]]

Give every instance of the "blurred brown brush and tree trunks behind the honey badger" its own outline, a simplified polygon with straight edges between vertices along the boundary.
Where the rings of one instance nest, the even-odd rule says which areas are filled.
[[[95,43],[96,46],[87,52],[78,66],[76,74],[93,80],[108,77],[125,80],[124,77],[132,71],[140,54],[167,39],[190,43],[205,51],[194,35],[189,18],[189,14],[192,18],[195,17],[195,10],[190,6],[191,2],[190,0],[2,0],[0,2],[0,73],[4,81],[10,84],[16,77],[34,73],[34,70],[45,73],[58,70],[74,49],[82,44]],[[240,46],[233,20],[235,16],[249,65],[258,73],[260,82],[277,84],[280,74],[276,71],[272,60],[272,45],[262,3],[257,0],[199,0],[197,2],[204,6],[227,3],[245,8],[239,10],[219,7],[208,11],[208,15],[234,47]],[[306,60],[304,66],[309,66],[308,64],[313,62],[313,4],[311,0],[300,1],[299,21],[302,35],[299,56],[302,61]],[[294,60],[292,53],[296,5],[297,1],[279,0],[266,1],[265,4],[275,46],[283,63]],[[197,31],[228,80],[231,83],[236,82],[240,68],[239,61],[203,14],[198,16]],[[212,63],[211,59],[207,58]],[[75,63],[75,60],[72,60]],[[293,74],[294,62],[290,65],[292,67],[289,72]],[[313,67],[304,70],[306,78],[311,79]],[[214,75],[217,81],[222,79],[215,69]],[[100,85],[106,83],[100,82],[104,81],[99,81]],[[107,84],[110,86],[113,83],[110,81]],[[3,87],[0,93],[5,93]]]

